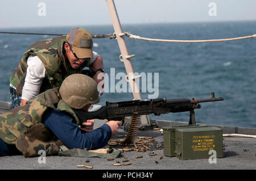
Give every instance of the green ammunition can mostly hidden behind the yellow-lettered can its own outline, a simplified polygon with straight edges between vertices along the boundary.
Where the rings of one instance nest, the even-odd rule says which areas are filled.
[[[205,125],[182,125],[163,127],[163,140],[164,140],[164,155],[167,157],[175,157],[175,129],[177,128],[201,128],[207,127]]]

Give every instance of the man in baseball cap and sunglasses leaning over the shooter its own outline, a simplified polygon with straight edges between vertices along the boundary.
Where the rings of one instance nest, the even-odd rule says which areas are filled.
[[[11,108],[26,104],[41,92],[60,87],[68,75],[82,73],[86,66],[93,72],[90,76],[101,82],[104,78],[97,77],[105,72],[103,61],[92,48],[92,35],[84,28],[73,28],[67,36],[32,44],[10,77]]]

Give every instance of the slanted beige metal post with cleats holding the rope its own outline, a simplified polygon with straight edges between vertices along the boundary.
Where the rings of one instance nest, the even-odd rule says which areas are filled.
[[[137,82],[135,82],[135,79],[138,77],[134,77],[134,70],[133,65],[131,64],[130,58],[134,57],[134,55],[129,55],[125,38],[122,31],[122,27],[118,18],[117,10],[115,9],[115,4],[113,0],[106,0],[106,3],[108,4],[110,17],[112,19],[115,36],[117,37],[117,42],[119,45],[119,49],[121,51],[120,60],[125,64],[125,69],[127,73],[127,78],[129,80],[131,89],[133,91],[133,96],[135,100],[141,100],[141,93],[139,92],[139,87],[137,85]],[[141,124],[142,125],[150,125],[150,119],[148,115],[143,115],[141,117]]]

